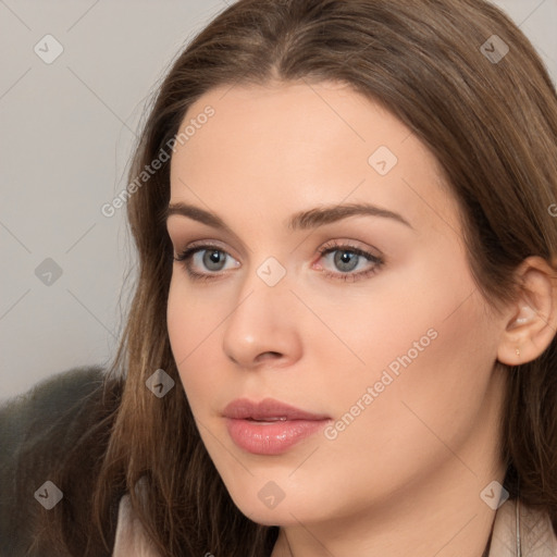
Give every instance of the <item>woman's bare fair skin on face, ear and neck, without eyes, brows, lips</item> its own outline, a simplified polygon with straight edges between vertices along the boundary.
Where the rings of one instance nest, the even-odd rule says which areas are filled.
[[[480,557],[495,516],[480,494],[504,479],[497,359],[520,363],[547,346],[537,309],[555,329],[555,287],[543,265],[521,270],[534,298],[492,311],[435,159],[345,85],[213,89],[184,125],[208,104],[214,116],[172,158],[171,203],[210,211],[232,232],[178,214],[168,230],[176,255],[207,240],[228,259],[222,271],[203,267],[202,251],[190,260],[216,275],[210,281],[174,262],[168,327],[200,435],[234,503],[251,520],[282,527],[273,557]],[[383,176],[368,163],[380,146],[398,159]],[[411,226],[371,215],[285,225],[298,211],[350,202],[397,212]],[[334,253],[319,253],[331,242],[384,263],[360,257],[351,273],[373,274],[327,276],[347,274]],[[269,257],[286,272],[274,286],[257,274]],[[273,397],[334,424],[431,330],[435,339],[336,438],[319,432],[261,456],[228,436],[222,411],[238,397]],[[258,497],[270,481],[285,495],[274,508]]]

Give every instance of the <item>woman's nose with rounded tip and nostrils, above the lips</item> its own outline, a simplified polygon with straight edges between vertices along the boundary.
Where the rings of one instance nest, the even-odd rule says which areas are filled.
[[[253,272],[225,321],[227,358],[246,369],[295,363],[302,352],[296,301],[286,281],[268,286]]]

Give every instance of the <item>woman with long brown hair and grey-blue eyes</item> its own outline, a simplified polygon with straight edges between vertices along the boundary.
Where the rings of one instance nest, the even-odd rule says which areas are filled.
[[[483,0],[225,10],[145,124],[137,290],[36,547],[556,555],[556,138]]]

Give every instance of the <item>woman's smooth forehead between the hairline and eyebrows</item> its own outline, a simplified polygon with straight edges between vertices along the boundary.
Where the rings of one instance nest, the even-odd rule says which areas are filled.
[[[410,221],[458,226],[431,151],[346,85],[215,88],[189,108],[180,129],[186,126],[171,161],[173,202],[201,201],[242,219],[242,200],[250,212],[368,201],[404,208]]]

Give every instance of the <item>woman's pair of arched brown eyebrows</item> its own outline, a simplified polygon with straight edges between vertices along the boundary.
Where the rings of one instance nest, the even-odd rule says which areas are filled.
[[[164,221],[173,214],[188,216],[213,228],[233,234],[227,224],[216,214],[205,209],[187,205],[183,202],[170,203],[164,213]],[[349,216],[380,216],[383,219],[392,219],[413,230],[413,226],[401,215],[388,209],[383,209],[370,203],[347,203],[336,206],[315,207],[308,211],[295,213],[286,222],[286,226],[292,230],[309,230],[317,228],[324,224],[348,219]]]

